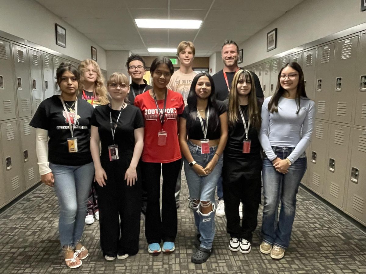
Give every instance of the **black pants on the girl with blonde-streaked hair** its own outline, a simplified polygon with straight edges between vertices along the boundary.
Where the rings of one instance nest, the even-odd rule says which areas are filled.
[[[223,191],[227,232],[231,237],[252,240],[257,227],[259,203],[261,203],[262,160],[242,162],[224,158]],[[240,226],[239,204],[243,203],[243,220]]]

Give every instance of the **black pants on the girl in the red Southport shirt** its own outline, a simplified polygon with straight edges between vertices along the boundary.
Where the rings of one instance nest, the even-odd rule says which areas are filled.
[[[178,178],[180,159],[171,163],[143,162],[147,190],[145,234],[147,243],[175,241],[177,235],[177,209],[175,206],[175,185]],[[163,170],[163,196],[160,217],[160,173]]]

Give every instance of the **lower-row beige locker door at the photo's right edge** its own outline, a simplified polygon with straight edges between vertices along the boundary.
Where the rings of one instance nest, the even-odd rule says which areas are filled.
[[[346,212],[366,225],[366,130],[352,129]]]

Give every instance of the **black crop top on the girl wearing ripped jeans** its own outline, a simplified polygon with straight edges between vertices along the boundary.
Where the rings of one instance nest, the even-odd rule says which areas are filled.
[[[217,107],[219,109],[218,116],[220,116],[225,111],[227,111],[227,107],[221,101],[216,101],[216,103],[217,103]],[[186,106],[184,108],[184,111],[182,113],[182,117],[184,119],[187,119],[189,117],[189,107],[188,106]],[[216,139],[220,138],[220,136],[221,136],[220,117],[218,117],[218,119],[219,119],[219,125],[217,126],[216,130],[214,130],[213,132],[208,129],[208,132],[206,134],[206,139],[216,140]],[[202,118],[202,122],[203,122],[203,126],[205,126],[206,125],[206,119]],[[203,135],[203,132],[202,132],[201,122],[199,121],[198,117],[191,124],[190,128],[187,130],[187,135],[188,135],[188,139],[193,139],[193,140],[202,140],[202,139],[205,138],[205,136]]]

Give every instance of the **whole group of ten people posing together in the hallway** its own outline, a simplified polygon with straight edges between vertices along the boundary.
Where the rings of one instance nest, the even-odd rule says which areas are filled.
[[[184,42],[182,50],[181,44],[178,57],[188,55],[193,46]],[[236,52],[226,54],[233,45]],[[233,41],[223,45],[223,56],[234,65],[237,49]],[[142,79],[145,63],[140,56],[131,57],[128,73]],[[245,69],[235,69],[223,102],[217,100],[215,81],[208,73],[193,75],[183,98],[167,88],[173,72],[172,62],[158,57],[150,66],[151,87],[143,80],[130,85],[126,75],[115,72],[107,81],[107,95],[95,61],[85,60],[79,69],[62,63],[57,69],[61,95],[44,100],[30,125],[36,128],[42,182],[54,187],[59,201],[60,242],[68,267],[81,266],[89,254],[82,233],[93,178],[106,260],[138,252],[143,189],[148,252],[173,252],[182,158],[196,232],[193,263],[205,262],[213,250],[215,190],[221,175],[229,249],[244,254],[251,250],[263,179],[259,249],[275,259],[284,256],[314,120],[314,102],[306,96],[300,65],[292,62],[280,70],[276,92],[264,102],[255,90],[258,77]],[[95,109],[93,100],[100,102]]]

